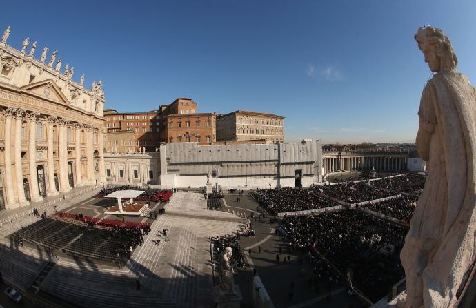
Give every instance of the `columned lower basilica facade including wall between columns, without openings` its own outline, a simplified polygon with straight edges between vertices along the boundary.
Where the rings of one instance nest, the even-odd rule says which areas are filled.
[[[39,123],[41,123],[41,130],[38,128]],[[43,123],[48,123],[46,144],[43,141]],[[27,124],[29,124],[28,135]],[[54,136],[55,127],[58,132],[57,138]],[[73,129],[75,130],[74,143],[70,142]],[[70,134],[68,134],[68,130],[71,130]],[[95,132],[97,133],[97,140],[93,140]],[[73,123],[68,119],[57,116],[43,115],[41,117],[39,112],[26,111],[23,108],[6,108],[4,110],[3,130],[5,163],[3,191],[6,194],[6,208],[29,205],[29,201],[41,201],[45,194],[46,196],[54,196],[60,192],[68,192],[72,189],[70,183],[74,183],[75,186],[82,186],[103,181],[105,179],[103,138],[100,132],[99,128],[92,125]],[[81,138],[83,133],[85,138],[81,140],[83,139]],[[13,142],[12,136],[14,136]],[[37,136],[41,140],[37,140]],[[28,145],[26,138],[28,138]],[[85,145],[87,148],[87,162],[81,160],[81,148]],[[25,149],[27,147],[28,150]],[[97,152],[95,152],[95,147],[98,147]],[[42,153],[43,150],[46,150],[46,159],[38,153]],[[55,152],[57,153],[56,159]],[[68,156],[68,152],[71,155]],[[97,163],[93,161],[95,158]],[[57,165],[55,165],[55,161]],[[75,175],[74,180],[70,178],[68,173],[68,164],[70,164],[70,171]],[[87,165],[87,168],[83,168],[83,164]],[[96,170],[95,164],[97,165]],[[25,168],[25,166],[27,167]],[[39,167],[46,173],[44,182],[40,183],[45,188],[43,189],[44,192],[41,192],[39,185]],[[83,173],[85,169],[86,172]],[[55,177],[56,174],[59,174],[57,177],[59,181]],[[57,186],[59,189],[57,189]],[[28,187],[28,190],[26,187]]]

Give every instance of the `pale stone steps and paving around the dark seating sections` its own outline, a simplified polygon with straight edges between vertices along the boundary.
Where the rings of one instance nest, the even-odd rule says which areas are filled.
[[[87,209],[88,214],[103,211],[102,207],[95,209],[90,204],[78,202],[64,210],[84,213]],[[174,194],[165,208],[165,215],[157,216],[157,220],[149,219],[152,232],[144,236],[145,243],[135,249],[125,266],[61,258],[41,285],[41,292],[81,307],[212,306],[208,237],[244,229],[246,220],[226,212],[208,211],[203,194],[198,193]],[[163,229],[168,229],[168,240]],[[161,244],[157,246],[152,240],[158,238]],[[28,283],[34,277],[34,267],[44,266],[45,256],[42,251],[16,247],[6,249],[2,258],[14,258],[18,253],[25,256],[28,269],[32,268],[26,273],[25,281],[22,280]],[[12,266],[21,263],[17,261]]]

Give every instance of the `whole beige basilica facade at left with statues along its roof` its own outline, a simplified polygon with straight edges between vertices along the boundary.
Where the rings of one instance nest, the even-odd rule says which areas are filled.
[[[0,209],[103,183],[101,81],[84,88],[57,51],[35,59],[37,42],[16,50],[9,34],[0,42]]]

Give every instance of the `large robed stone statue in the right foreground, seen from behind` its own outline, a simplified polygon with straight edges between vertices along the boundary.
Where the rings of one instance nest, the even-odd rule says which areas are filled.
[[[455,307],[476,252],[476,93],[442,30],[419,28],[415,40],[435,74],[418,112],[428,177],[401,250],[407,296],[399,307]]]

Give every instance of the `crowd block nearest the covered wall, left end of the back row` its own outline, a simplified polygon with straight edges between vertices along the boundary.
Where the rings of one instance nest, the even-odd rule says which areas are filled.
[[[321,209],[338,205],[317,194],[318,187],[310,189],[279,188],[257,189],[255,196],[261,206],[272,215],[282,212],[302,211],[305,209]]]

